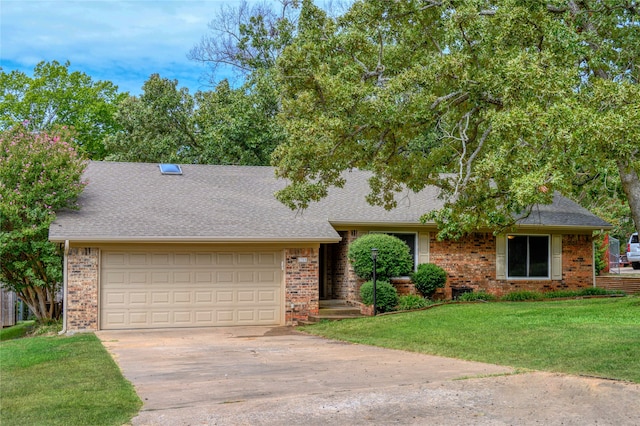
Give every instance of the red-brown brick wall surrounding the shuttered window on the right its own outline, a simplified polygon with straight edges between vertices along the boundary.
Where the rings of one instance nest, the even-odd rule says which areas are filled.
[[[496,280],[496,238],[473,233],[460,241],[431,240],[430,262],[447,271],[445,297],[452,288],[469,287],[498,297],[519,290],[552,291],[593,286],[592,237],[563,235],[562,280]]]

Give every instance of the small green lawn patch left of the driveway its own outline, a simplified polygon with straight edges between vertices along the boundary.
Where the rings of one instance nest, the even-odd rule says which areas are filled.
[[[0,343],[0,424],[122,425],[142,403],[93,334]]]

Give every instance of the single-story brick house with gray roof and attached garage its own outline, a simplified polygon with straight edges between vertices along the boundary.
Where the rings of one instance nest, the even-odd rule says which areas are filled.
[[[441,206],[436,188],[399,194],[386,211],[365,201],[368,173],[345,176],[292,212],[274,198],[286,182],[270,167],[90,163],[80,210],[59,212],[49,231],[64,246],[65,330],[296,324],[321,299],[358,302],[347,251],[368,232],[443,267],[449,296],[594,283],[592,234],[610,225],[566,198],[516,232],[438,241],[419,221]]]

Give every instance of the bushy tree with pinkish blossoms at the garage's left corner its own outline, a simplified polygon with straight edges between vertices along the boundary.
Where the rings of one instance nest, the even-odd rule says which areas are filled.
[[[55,318],[62,283],[61,249],[48,240],[55,211],[74,208],[85,161],[74,134],[18,125],[0,134],[0,283],[39,321]]]

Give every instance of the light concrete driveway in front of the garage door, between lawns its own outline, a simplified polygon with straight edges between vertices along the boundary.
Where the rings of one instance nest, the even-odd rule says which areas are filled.
[[[341,343],[286,327],[101,331],[134,425],[640,424],[640,386]]]

